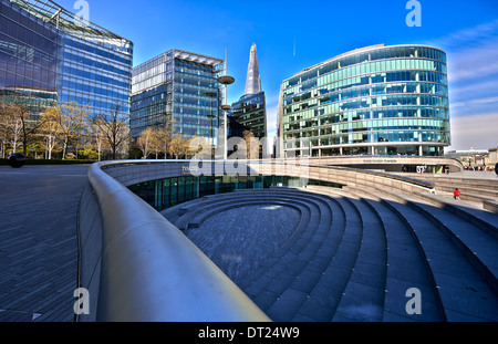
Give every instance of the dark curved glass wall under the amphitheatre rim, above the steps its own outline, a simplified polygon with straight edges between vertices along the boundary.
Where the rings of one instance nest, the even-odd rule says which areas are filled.
[[[200,176],[177,177],[152,180],[129,186],[158,211],[208,195],[232,192],[238,189],[268,189],[270,187],[304,187],[320,185],[341,188],[342,185],[311,179],[304,181],[298,177],[287,176]]]

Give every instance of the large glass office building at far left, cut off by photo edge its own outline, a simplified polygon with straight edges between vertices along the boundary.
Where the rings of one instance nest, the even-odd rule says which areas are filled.
[[[51,0],[0,0],[0,92],[128,115],[133,43]],[[49,104],[50,105],[50,104]]]

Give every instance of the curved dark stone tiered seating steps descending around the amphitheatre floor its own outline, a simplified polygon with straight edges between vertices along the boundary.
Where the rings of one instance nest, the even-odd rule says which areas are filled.
[[[288,238],[264,259],[252,257],[245,273],[219,263],[278,322],[497,321],[498,215],[416,196],[351,187],[239,190],[163,215],[196,243],[209,236],[210,218],[234,209],[298,211]],[[205,253],[216,250],[206,246]],[[406,312],[411,288],[422,292],[422,314]]]

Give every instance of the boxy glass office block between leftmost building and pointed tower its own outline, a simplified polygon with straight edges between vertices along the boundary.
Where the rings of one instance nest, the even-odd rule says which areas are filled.
[[[180,135],[216,143],[218,77],[225,60],[173,49],[133,70],[131,131],[133,137],[151,126],[172,126]]]

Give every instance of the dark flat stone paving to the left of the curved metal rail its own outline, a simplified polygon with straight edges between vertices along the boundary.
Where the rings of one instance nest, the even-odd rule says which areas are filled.
[[[0,321],[71,322],[89,166],[0,166]]]

